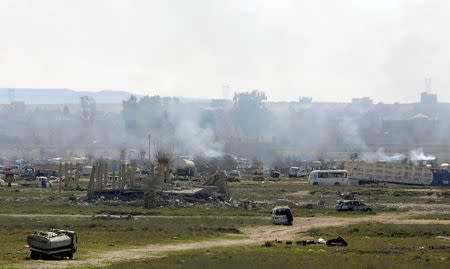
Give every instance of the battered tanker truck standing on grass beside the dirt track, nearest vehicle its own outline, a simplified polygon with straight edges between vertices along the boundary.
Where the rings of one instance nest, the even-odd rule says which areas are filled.
[[[34,231],[28,235],[27,243],[33,260],[43,256],[73,259],[73,254],[77,251],[78,236],[69,230]]]

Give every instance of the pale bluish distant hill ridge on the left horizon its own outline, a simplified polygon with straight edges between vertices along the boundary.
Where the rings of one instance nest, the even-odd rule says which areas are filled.
[[[99,92],[78,92],[70,89],[14,89],[14,101],[25,104],[77,104],[81,96],[89,96],[97,103],[121,103],[131,93],[104,90]],[[139,96],[139,95],[138,95]],[[12,95],[9,88],[0,88],[0,104],[9,104]]]

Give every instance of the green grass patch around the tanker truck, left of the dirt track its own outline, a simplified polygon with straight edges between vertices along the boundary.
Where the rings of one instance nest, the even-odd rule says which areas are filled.
[[[78,233],[76,257],[83,259],[92,250],[113,250],[153,243],[197,241],[239,235],[239,227],[267,224],[254,218],[139,218],[102,220],[86,217],[5,217],[0,216],[0,267],[23,261],[29,256],[24,248],[26,237],[33,230],[50,228]]]

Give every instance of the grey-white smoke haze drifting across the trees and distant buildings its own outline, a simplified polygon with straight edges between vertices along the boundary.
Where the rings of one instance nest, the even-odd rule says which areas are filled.
[[[333,152],[359,152],[359,159],[370,162],[398,162],[434,159],[424,153],[417,141],[426,138],[439,143],[440,137],[446,138],[448,133],[448,127],[440,124],[446,122],[445,117],[440,121],[405,120],[397,129],[386,131],[381,119],[399,117],[398,113],[405,110],[399,112],[392,105],[373,105],[369,109],[348,103],[269,103],[264,92],[259,91],[238,93],[235,97],[233,103],[133,97],[116,106],[121,108],[120,113],[118,109],[105,112],[106,106],[101,104],[83,106],[82,102],[59,106],[4,105],[0,110],[0,146],[4,149],[1,157],[89,155],[90,159],[118,159],[120,149],[126,148],[126,158],[137,158],[147,151],[150,134],[153,149],[167,148],[184,156],[232,155],[262,160],[265,166],[280,163],[282,158],[339,159],[330,154]],[[400,116],[409,118],[421,109],[414,105]],[[433,106],[435,115],[450,115],[445,111]],[[411,123],[414,128],[402,127]],[[430,128],[420,128],[424,124]],[[402,148],[394,151],[382,144]],[[419,148],[411,150],[413,144]]]

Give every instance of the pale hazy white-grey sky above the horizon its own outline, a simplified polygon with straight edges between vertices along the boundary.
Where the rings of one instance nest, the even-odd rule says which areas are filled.
[[[0,88],[450,102],[450,1],[0,1]],[[229,85],[229,90],[224,90]]]

